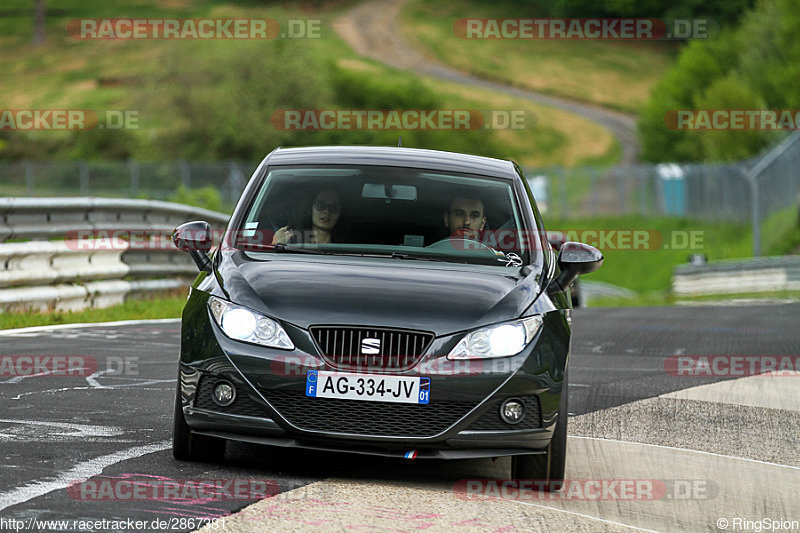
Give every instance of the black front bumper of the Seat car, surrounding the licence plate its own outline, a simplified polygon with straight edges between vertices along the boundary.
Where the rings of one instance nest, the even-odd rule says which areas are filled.
[[[179,377],[184,416],[194,433],[271,446],[390,457],[413,452],[414,458],[437,459],[544,453],[553,436],[569,352],[569,330],[559,312],[545,317],[539,337],[521,354],[477,368],[444,356],[461,334],[435,339],[420,362],[402,372],[431,379],[428,405],[308,398],[307,371],[337,369],[316,353],[307,331],[286,326],[297,348],[272,350],[232,341],[207,312],[198,315],[184,314]],[[237,390],[228,407],[211,401],[218,380]],[[527,407],[518,425],[499,415],[501,403],[512,397]]]

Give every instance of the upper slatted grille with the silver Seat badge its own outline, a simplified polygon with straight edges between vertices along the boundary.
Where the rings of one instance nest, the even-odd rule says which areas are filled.
[[[310,330],[328,362],[348,370],[409,369],[433,341],[433,333],[426,331],[348,326],[312,326]]]

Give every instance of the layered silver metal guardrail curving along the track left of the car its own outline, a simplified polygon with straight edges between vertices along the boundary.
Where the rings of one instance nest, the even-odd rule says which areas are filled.
[[[189,220],[223,229],[228,218],[151,200],[0,198],[0,309],[106,307],[185,287],[197,268],[168,235]],[[124,240],[137,233],[162,238]]]

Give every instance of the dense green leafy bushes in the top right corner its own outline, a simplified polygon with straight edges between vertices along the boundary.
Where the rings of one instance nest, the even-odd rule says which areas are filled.
[[[752,156],[778,132],[685,132],[664,124],[674,109],[795,109],[800,106],[800,42],[792,0],[762,0],[741,26],[686,46],[653,89],[639,131],[649,161],[724,161]]]

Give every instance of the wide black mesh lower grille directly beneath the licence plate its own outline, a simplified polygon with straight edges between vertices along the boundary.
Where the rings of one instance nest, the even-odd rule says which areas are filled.
[[[292,425],[308,431],[388,437],[432,437],[445,431],[477,403],[430,404],[310,398],[303,392],[264,389],[264,397]]]

